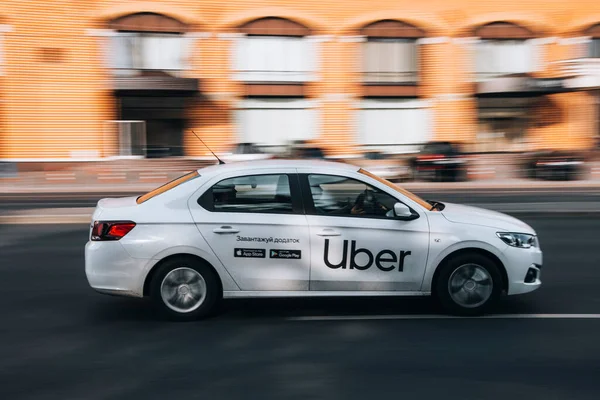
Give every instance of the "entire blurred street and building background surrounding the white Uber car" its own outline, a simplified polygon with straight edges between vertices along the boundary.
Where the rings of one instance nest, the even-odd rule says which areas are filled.
[[[544,285],[462,320],[337,298],[168,324],[97,295],[96,203],[215,164],[196,135],[514,215]],[[597,400],[599,150],[598,0],[1,0],[0,398]]]

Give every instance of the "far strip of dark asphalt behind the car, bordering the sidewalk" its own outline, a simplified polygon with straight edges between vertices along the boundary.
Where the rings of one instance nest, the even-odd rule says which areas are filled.
[[[450,203],[600,203],[600,189],[583,190],[440,190],[437,192],[414,190],[427,200]],[[134,196],[140,193],[47,193],[47,194],[0,194],[0,212],[36,208],[95,207],[104,197]]]

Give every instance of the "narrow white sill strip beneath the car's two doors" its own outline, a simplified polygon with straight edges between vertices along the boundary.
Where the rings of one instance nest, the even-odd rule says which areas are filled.
[[[271,290],[236,290],[224,291],[223,298],[258,298],[258,297],[354,297],[354,296],[429,296],[431,292],[419,291],[271,291]]]

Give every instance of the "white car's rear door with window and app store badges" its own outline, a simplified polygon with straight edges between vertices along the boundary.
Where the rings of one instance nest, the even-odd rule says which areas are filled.
[[[309,233],[295,169],[220,175],[189,206],[242,290],[308,290]]]

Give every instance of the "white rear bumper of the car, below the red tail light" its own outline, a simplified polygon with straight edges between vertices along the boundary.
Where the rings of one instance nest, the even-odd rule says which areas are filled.
[[[142,297],[149,261],[132,258],[117,241],[85,245],[85,275],[90,286],[101,293]]]

